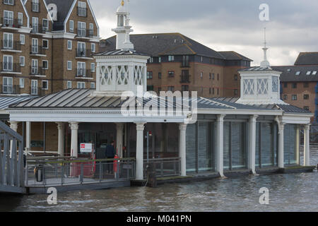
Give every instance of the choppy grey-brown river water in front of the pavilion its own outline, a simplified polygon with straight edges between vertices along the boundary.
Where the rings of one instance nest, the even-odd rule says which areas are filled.
[[[302,159],[302,158],[301,158]],[[311,151],[318,163],[318,148]],[[318,173],[270,174],[60,193],[57,205],[47,195],[0,196],[0,211],[318,211]],[[259,204],[259,189],[269,189],[269,205]]]

